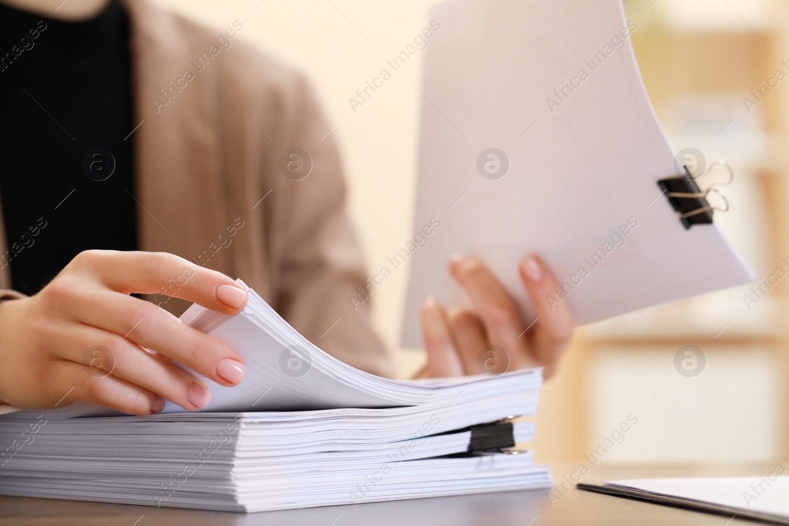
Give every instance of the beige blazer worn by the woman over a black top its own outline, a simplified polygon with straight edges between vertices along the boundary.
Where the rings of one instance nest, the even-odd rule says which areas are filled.
[[[308,82],[242,43],[243,21],[225,34],[149,0],[125,9],[134,122],[141,123],[133,133],[140,249],[243,279],[321,349],[390,375],[369,302],[354,310],[350,301],[365,285],[362,254],[343,211],[331,125]],[[290,148],[312,159],[301,181],[280,169]],[[0,213],[0,254],[8,248]],[[0,289],[10,283],[5,267]],[[169,300],[163,308],[178,314],[185,304]]]

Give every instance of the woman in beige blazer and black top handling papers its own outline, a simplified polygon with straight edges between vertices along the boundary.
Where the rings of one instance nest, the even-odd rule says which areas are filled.
[[[239,42],[243,21],[216,32],[147,0],[61,2],[0,0],[0,402],[205,407],[206,386],[170,361],[234,386],[243,360],[170,311],[237,313],[247,297],[228,276],[327,352],[387,375],[368,312],[347,300],[365,282],[361,251],[304,78]],[[476,312],[426,301],[426,374],[477,374],[486,345],[550,374],[573,321],[540,300],[556,286],[540,260],[520,265],[539,315],[528,332],[481,263],[449,267]],[[84,367],[96,345],[110,375]]]

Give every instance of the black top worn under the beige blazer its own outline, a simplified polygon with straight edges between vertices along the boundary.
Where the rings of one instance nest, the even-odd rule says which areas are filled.
[[[116,0],[77,23],[0,6],[0,268],[21,293],[89,248],[136,249],[128,37]]]

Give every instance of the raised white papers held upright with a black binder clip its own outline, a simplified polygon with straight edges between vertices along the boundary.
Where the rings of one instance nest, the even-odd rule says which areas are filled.
[[[716,225],[685,229],[661,195],[681,162],[619,0],[453,1],[432,19],[414,224],[440,228],[409,258],[403,345],[421,346],[426,295],[463,300],[453,252],[487,263],[527,320],[529,253],[562,283],[545,301],[569,302],[580,323],[752,279]]]

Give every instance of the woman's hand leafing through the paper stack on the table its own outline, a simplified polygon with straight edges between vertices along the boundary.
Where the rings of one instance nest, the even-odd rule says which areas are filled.
[[[226,314],[247,302],[232,279],[178,256],[81,252],[35,296],[0,301],[0,402],[92,401],[148,415],[165,398],[188,410],[211,401],[204,383],[170,360],[222,386],[244,379],[233,349],[131,293],[165,293]]]

